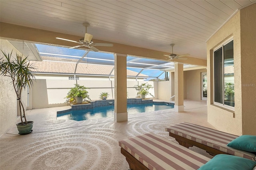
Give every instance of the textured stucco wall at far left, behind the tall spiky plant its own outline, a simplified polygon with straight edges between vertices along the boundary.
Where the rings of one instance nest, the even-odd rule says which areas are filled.
[[[16,53],[20,54],[16,49],[7,41],[0,39],[0,48],[12,56],[16,57]],[[0,52],[0,58],[2,58],[2,51]],[[14,89],[11,84],[11,79],[6,76],[0,76],[0,135],[6,132],[9,128],[19,121],[17,116],[17,98]],[[22,94],[22,103],[27,106],[27,90],[24,90]]]

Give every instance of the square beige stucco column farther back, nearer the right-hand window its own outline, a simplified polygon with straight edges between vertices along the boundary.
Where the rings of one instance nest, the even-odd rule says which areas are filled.
[[[183,64],[174,63],[174,111],[184,111]]]

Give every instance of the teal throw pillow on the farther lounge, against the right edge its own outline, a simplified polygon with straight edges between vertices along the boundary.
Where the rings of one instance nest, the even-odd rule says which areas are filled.
[[[227,146],[248,152],[256,152],[256,136],[242,135],[232,140]]]

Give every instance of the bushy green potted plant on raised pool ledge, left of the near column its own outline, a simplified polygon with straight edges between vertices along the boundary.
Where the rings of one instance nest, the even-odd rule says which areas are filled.
[[[65,97],[69,103],[81,104],[83,103],[84,99],[91,100],[90,96],[88,95],[88,91],[86,90],[88,88],[84,87],[83,85],[74,85],[75,87],[72,87]]]

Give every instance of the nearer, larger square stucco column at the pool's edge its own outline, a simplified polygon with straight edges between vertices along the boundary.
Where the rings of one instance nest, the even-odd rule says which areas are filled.
[[[128,120],[127,114],[127,70],[126,57],[123,54],[114,54],[115,57],[115,109],[114,121]]]

